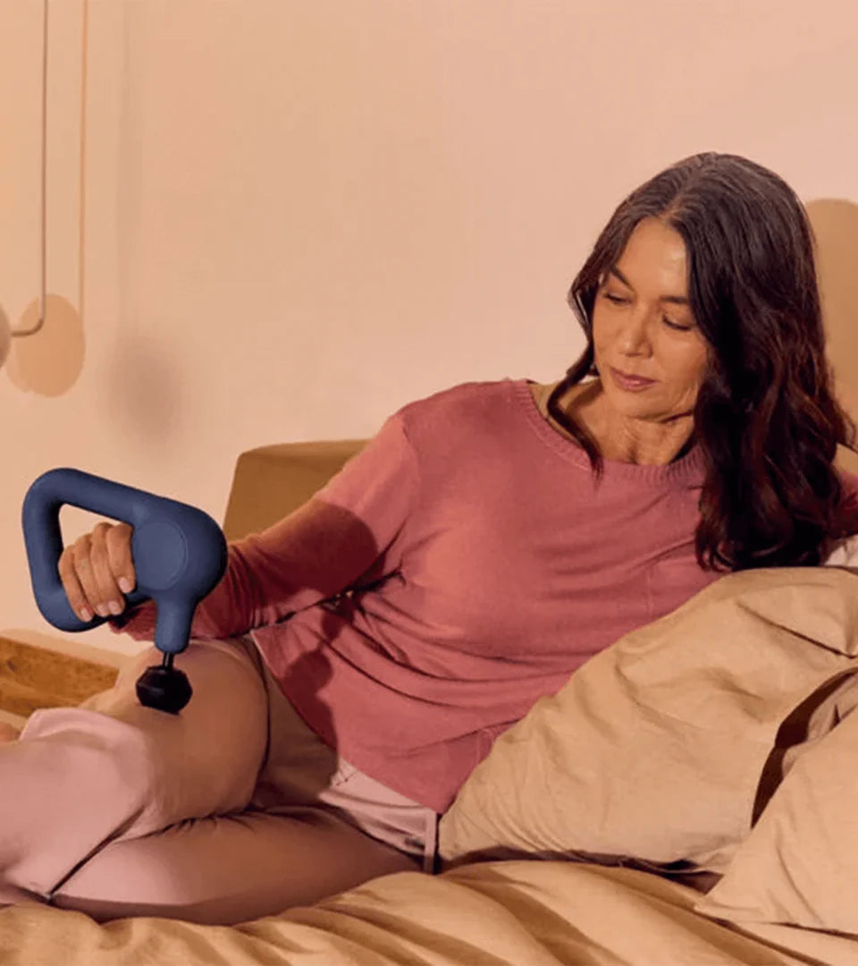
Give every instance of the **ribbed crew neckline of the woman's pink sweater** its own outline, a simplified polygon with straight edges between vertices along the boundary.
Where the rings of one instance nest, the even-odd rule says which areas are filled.
[[[540,412],[530,390],[533,380],[510,380],[512,394],[531,427],[551,449],[580,469],[591,469],[590,459],[583,446],[559,433]],[[622,460],[602,459],[603,482],[625,480],[656,486],[694,486],[703,481],[703,451],[695,444],[679,460],[668,464],[624,463]]]

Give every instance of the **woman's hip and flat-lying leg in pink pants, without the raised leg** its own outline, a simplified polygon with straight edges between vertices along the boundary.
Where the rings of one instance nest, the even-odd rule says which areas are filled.
[[[328,748],[251,654],[265,684],[270,741],[249,808],[111,842],[54,893],[55,905],[97,919],[231,924],[421,867],[422,842],[409,839],[423,838],[429,810]]]

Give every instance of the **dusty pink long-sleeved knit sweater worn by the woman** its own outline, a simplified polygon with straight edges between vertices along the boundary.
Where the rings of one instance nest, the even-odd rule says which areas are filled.
[[[253,629],[325,742],[442,811],[540,696],[716,578],[694,556],[701,482],[693,449],[607,460],[596,484],[527,381],[460,385],[405,406],[317,497],[232,544],[193,633]],[[151,639],[153,617],[124,629]]]

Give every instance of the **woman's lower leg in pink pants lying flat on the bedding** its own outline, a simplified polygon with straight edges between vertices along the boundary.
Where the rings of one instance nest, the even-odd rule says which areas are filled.
[[[102,848],[52,903],[97,920],[233,925],[308,905],[417,860],[320,809],[190,819]]]

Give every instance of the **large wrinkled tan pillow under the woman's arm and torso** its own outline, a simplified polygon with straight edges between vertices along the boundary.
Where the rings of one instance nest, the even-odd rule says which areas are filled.
[[[853,667],[856,630],[858,577],[845,569],[711,584],[596,655],[495,742],[441,822],[442,859],[577,853],[722,873],[784,753],[815,736],[826,682]]]

